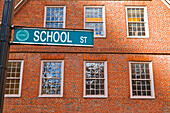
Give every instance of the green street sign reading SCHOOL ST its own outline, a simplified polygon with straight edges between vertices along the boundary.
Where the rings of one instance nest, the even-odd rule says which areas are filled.
[[[39,45],[93,46],[93,30],[15,28],[13,43]]]

